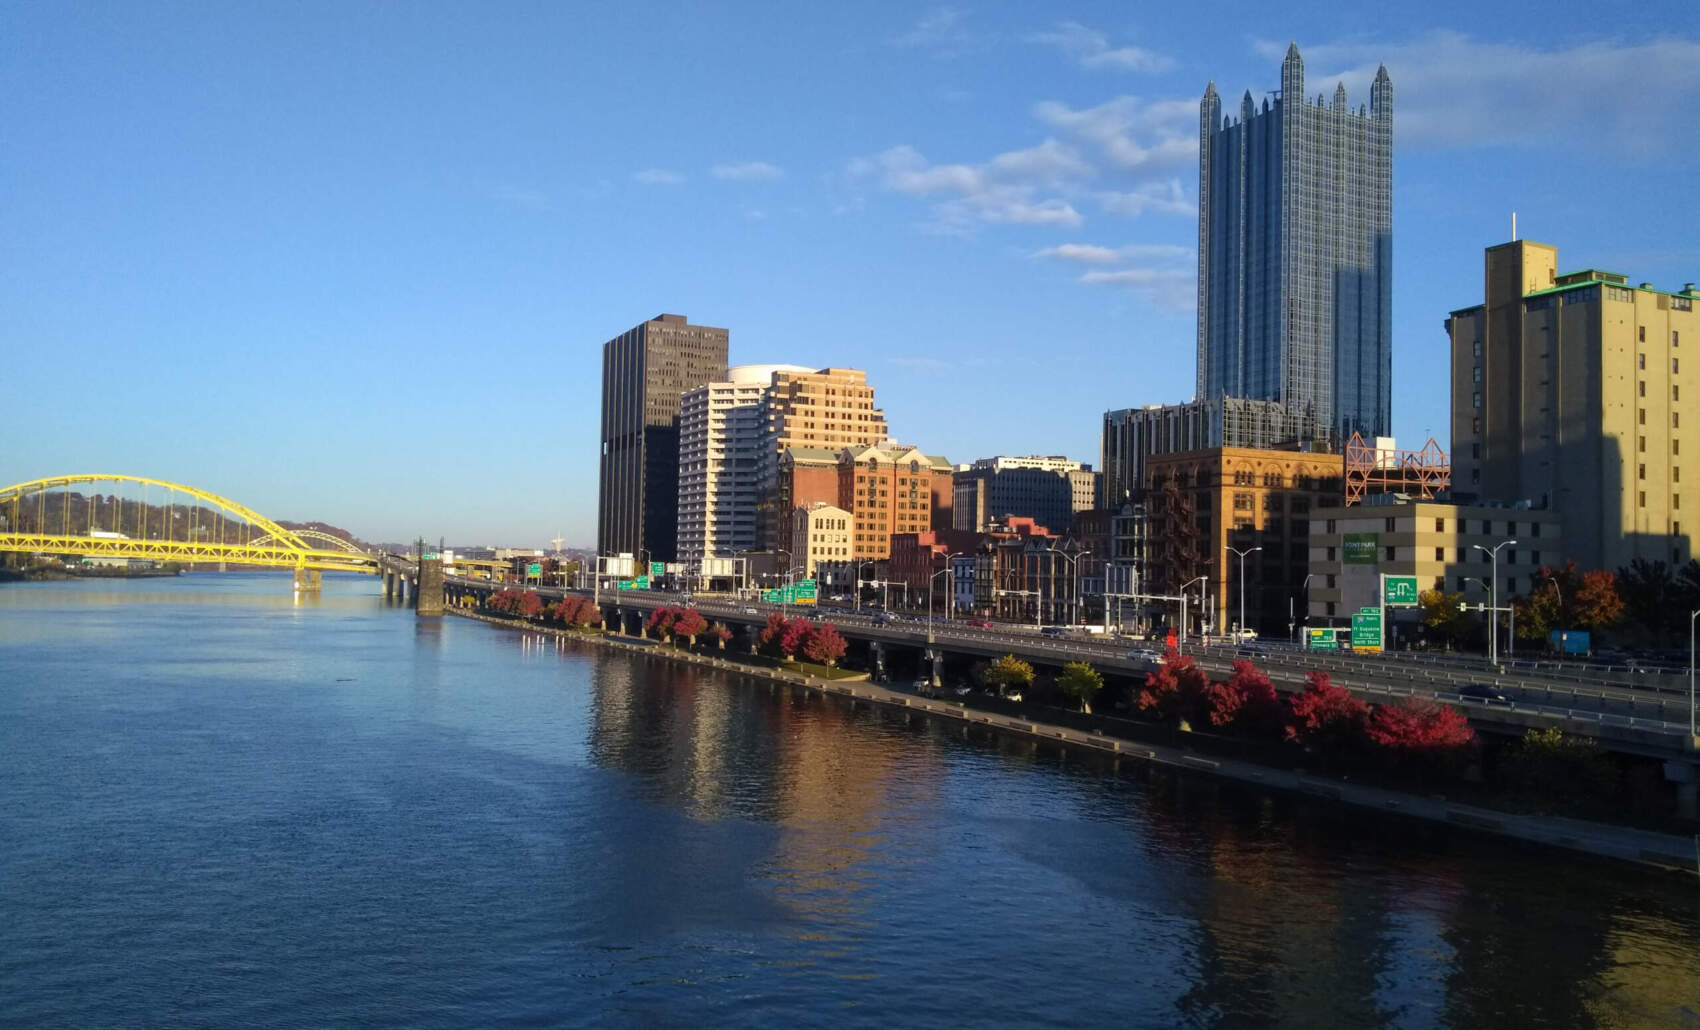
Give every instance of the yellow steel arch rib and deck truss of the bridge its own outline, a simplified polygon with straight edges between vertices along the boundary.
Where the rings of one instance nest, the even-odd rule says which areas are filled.
[[[65,534],[41,534],[41,532],[15,532],[17,530],[17,505],[26,496],[46,493],[49,490],[65,490],[78,483],[139,483],[144,486],[158,486],[167,491],[182,493],[192,496],[206,505],[216,507],[230,515],[235,515],[260,530],[264,535],[241,544],[230,544],[224,540],[136,540],[124,537],[78,537]],[[153,561],[184,561],[184,563],[230,563],[230,564],[269,564],[269,566],[289,566],[301,569],[323,569],[323,571],[355,571],[355,573],[372,573],[377,571],[377,559],[354,549],[347,540],[332,537],[330,534],[321,534],[316,530],[303,530],[299,534],[291,532],[265,515],[238,505],[233,500],[223,498],[216,493],[207,493],[194,486],[184,486],[180,483],[167,483],[165,479],[148,479],[143,476],[117,476],[117,474],[78,474],[78,476],[53,476],[48,479],[31,479],[29,483],[15,483],[0,490],[0,512],[14,512],[14,518],[7,522],[8,532],[0,532],[0,551],[22,551],[29,554],[83,554],[83,556],[104,556],[104,557],[143,557]],[[308,546],[303,539],[311,535],[314,539],[325,539],[337,544],[335,549],[318,549]]]

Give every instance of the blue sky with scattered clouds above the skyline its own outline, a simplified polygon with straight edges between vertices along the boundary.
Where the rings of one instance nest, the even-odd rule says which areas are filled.
[[[1193,384],[1197,102],[1394,114],[1394,430],[1520,235],[1700,280],[1688,3],[14,3],[0,481],[189,483],[366,539],[595,534],[600,345],[865,367],[952,461],[1098,461]],[[3,484],[0,483],[0,484]]]

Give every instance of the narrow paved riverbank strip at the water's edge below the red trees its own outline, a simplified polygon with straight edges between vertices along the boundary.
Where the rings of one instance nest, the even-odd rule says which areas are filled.
[[[1088,753],[1102,755],[1114,765],[1119,765],[1122,760],[1146,761],[1151,765],[1232,780],[1251,787],[1321,797],[1324,801],[1334,801],[1358,809],[1421,819],[1425,823],[1440,823],[1445,826],[1564,848],[1567,852],[1579,852],[1601,858],[1634,862],[1669,872],[1695,872],[1700,875],[1700,838],[1690,841],[1668,833],[1608,826],[1603,823],[1588,823],[1562,816],[1503,812],[1482,806],[1448,802],[1445,799],[1370,787],[1365,784],[1321,777],[1307,772],[1280,770],[1232,758],[1205,756],[1185,748],[1153,744],[1146,741],[1127,741],[1105,736],[1102,733],[1085,733],[1068,726],[983,712],[955,702],[932,700],[904,693],[901,690],[891,690],[887,687],[879,687],[877,683],[823,680],[796,671],[763,668],[758,665],[733,661],[729,658],[717,658],[714,654],[663,646],[656,641],[636,641],[602,632],[576,632],[552,625],[520,624],[512,619],[464,608],[449,608],[449,614],[474,619],[478,622],[490,622],[493,625],[503,625],[507,629],[585,641],[600,648],[624,651],[627,654],[666,658],[687,665],[765,678],[775,683],[802,687],[819,695],[843,697],[852,704],[870,704],[892,710],[923,712],[930,717],[954,721],[962,726],[978,726],[1006,736],[1046,741],[1062,748],[1080,748]]]

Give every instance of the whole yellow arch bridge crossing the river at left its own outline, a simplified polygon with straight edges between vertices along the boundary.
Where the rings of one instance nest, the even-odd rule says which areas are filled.
[[[143,476],[82,474],[0,490],[0,551],[92,561],[253,564],[376,573],[381,556],[318,530],[287,530],[233,500]],[[316,580],[316,576],[313,576]]]

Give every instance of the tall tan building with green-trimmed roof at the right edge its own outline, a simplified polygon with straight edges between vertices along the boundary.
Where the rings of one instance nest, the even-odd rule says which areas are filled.
[[[1557,269],[1544,243],[1489,246],[1486,303],[1447,320],[1454,496],[1562,512],[1566,557],[1583,568],[1688,561],[1700,294]]]

